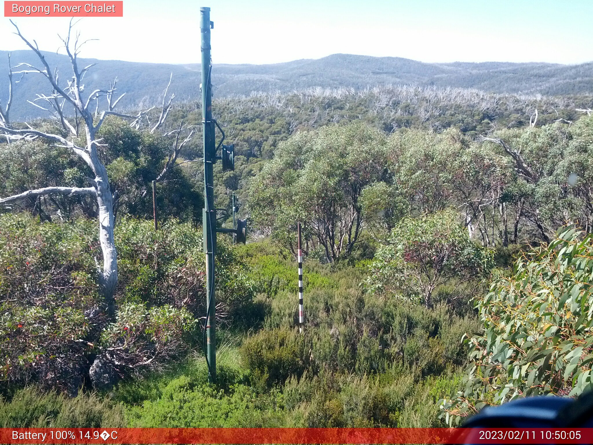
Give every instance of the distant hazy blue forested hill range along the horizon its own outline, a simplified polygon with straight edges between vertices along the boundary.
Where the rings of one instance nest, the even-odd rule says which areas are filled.
[[[0,61],[8,52],[0,51]],[[71,69],[66,56],[45,52],[50,66],[58,66],[62,78]],[[196,54],[197,58],[197,54]],[[38,65],[33,52],[12,52],[12,65]],[[180,100],[195,98],[200,65],[168,65],[80,59],[80,65],[97,63],[85,78],[87,90],[104,88],[115,77],[120,92],[126,92],[123,107],[154,103],[173,72],[173,91]],[[5,63],[2,65],[6,66]],[[18,80],[20,77],[15,77]],[[582,94],[593,92],[593,62],[581,65],[553,63],[423,63],[396,57],[334,54],[321,59],[303,59],[272,65],[214,65],[215,96],[248,95],[258,92],[287,92],[305,88],[365,88],[377,85],[416,84],[419,86],[477,88],[498,93]],[[43,85],[43,87],[42,87]],[[27,103],[44,91],[43,78],[28,74],[16,85],[13,119],[30,119],[43,110]],[[0,100],[8,94],[7,77],[0,78]],[[127,100],[127,101],[126,101]]]

